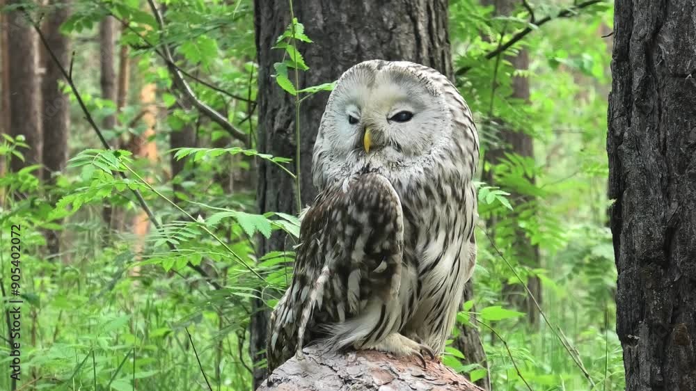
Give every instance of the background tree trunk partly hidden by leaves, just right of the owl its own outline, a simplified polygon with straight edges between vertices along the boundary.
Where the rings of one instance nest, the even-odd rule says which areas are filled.
[[[496,15],[512,15],[519,1],[482,0],[481,3],[485,6],[495,6]],[[529,52],[527,49],[520,49],[516,56],[507,56],[507,60],[512,63],[515,70],[527,70],[529,68]],[[529,97],[529,79],[526,77],[513,77],[512,95],[510,98],[528,102]],[[492,146],[484,157],[487,162],[491,163],[491,166],[495,166],[505,160],[506,153],[517,154],[521,157],[534,157],[534,139],[529,134],[526,134],[523,129],[510,129],[500,121],[500,128],[497,136],[499,140],[498,145]],[[484,173],[484,178],[491,186],[496,184],[496,178],[491,171]],[[533,177],[529,179],[534,182]],[[534,202],[534,198],[517,193],[514,189],[506,190],[510,191],[509,198],[514,200],[514,205],[530,205],[530,202]],[[513,217],[516,218],[516,216]],[[530,240],[525,235],[524,230],[519,228],[518,224],[513,224],[516,227],[513,246],[515,259],[519,260],[519,262],[525,266],[533,268],[539,267],[539,247],[530,244]],[[489,225],[494,231],[496,221],[489,221]],[[537,302],[541,303],[541,282],[539,278],[530,277],[527,285],[530,292],[537,298]],[[528,297],[523,287],[506,283],[503,287],[503,292],[506,301],[528,314],[528,319],[531,324],[538,324],[539,312],[532,298]]]

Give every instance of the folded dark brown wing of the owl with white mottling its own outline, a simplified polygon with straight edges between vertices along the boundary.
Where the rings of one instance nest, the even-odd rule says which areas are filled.
[[[301,223],[292,284],[271,314],[269,372],[301,355],[310,330],[337,337],[331,326],[355,319],[370,300],[397,296],[403,237],[400,198],[382,175],[358,175],[317,196]]]

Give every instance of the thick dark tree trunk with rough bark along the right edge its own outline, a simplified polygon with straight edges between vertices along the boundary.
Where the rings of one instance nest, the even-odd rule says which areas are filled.
[[[626,390],[696,390],[696,1],[617,1],[609,198]]]

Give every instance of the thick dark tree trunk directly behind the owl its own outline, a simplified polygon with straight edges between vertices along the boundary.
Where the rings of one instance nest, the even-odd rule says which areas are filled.
[[[374,58],[408,60],[452,75],[448,38],[448,2],[445,0],[400,0],[388,6],[377,0],[294,2],[294,14],[305,25],[313,43],[300,45],[310,70],[300,72],[301,87],[338,79],[351,65]],[[255,1],[256,46],[259,62],[258,149],[275,156],[294,157],[294,98],[276,85],[271,77],[273,64],[283,52],[271,49],[278,35],[290,22],[284,0]],[[308,205],[317,194],[312,184],[312,150],[324,112],[328,93],[306,99],[301,106],[301,204]],[[260,212],[296,213],[296,194],[292,178],[264,161],[259,164],[258,200]],[[290,249],[284,237],[276,235],[262,241],[262,251]],[[265,349],[267,311],[255,303],[251,319],[251,356],[262,359]],[[482,352],[482,348],[477,348]],[[254,374],[255,385],[264,371]]]

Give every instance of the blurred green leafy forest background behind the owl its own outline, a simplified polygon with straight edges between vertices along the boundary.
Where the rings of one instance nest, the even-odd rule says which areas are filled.
[[[251,390],[329,90],[382,57],[448,74],[482,140],[444,362],[495,390],[623,390],[613,3],[393,3],[426,6],[379,23],[377,0],[5,0],[0,277],[4,295],[21,225],[24,305],[22,381],[0,388]]]

